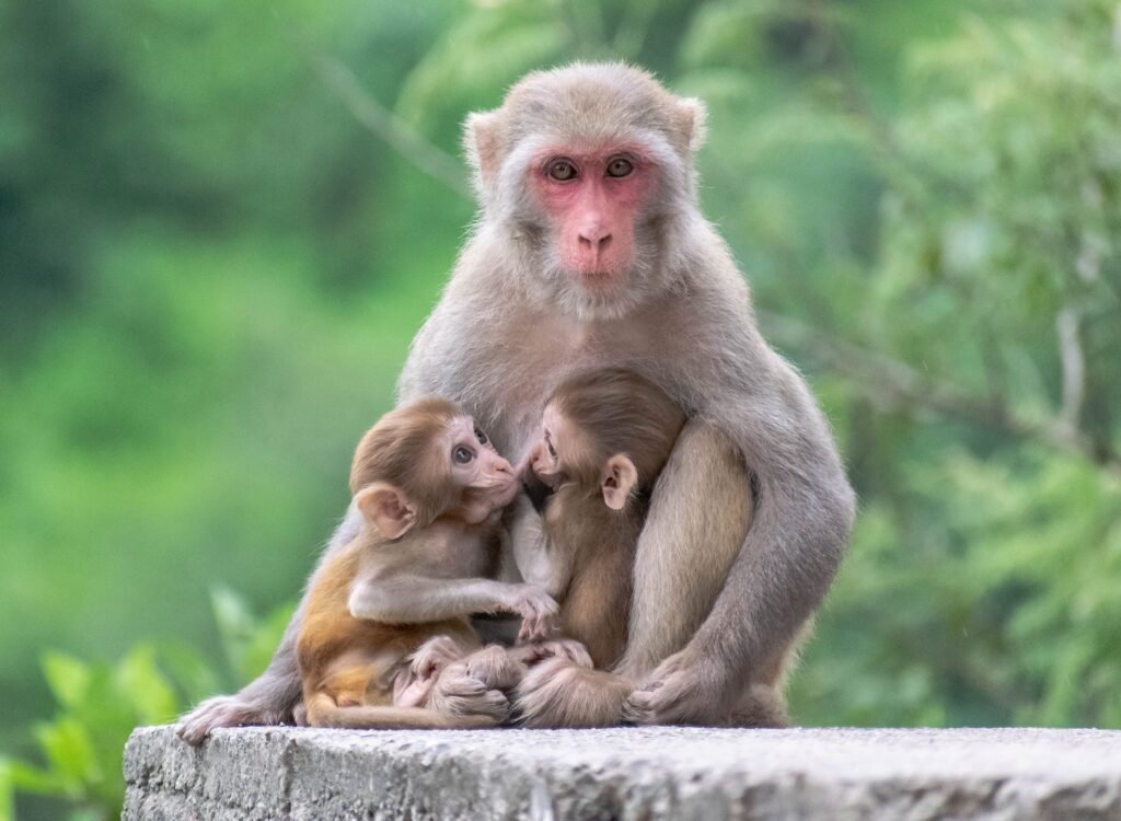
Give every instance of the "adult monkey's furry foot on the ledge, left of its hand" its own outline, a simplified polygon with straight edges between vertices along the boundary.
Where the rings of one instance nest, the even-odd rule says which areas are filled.
[[[567,658],[535,664],[515,691],[515,711],[526,727],[617,727],[634,686]]]

